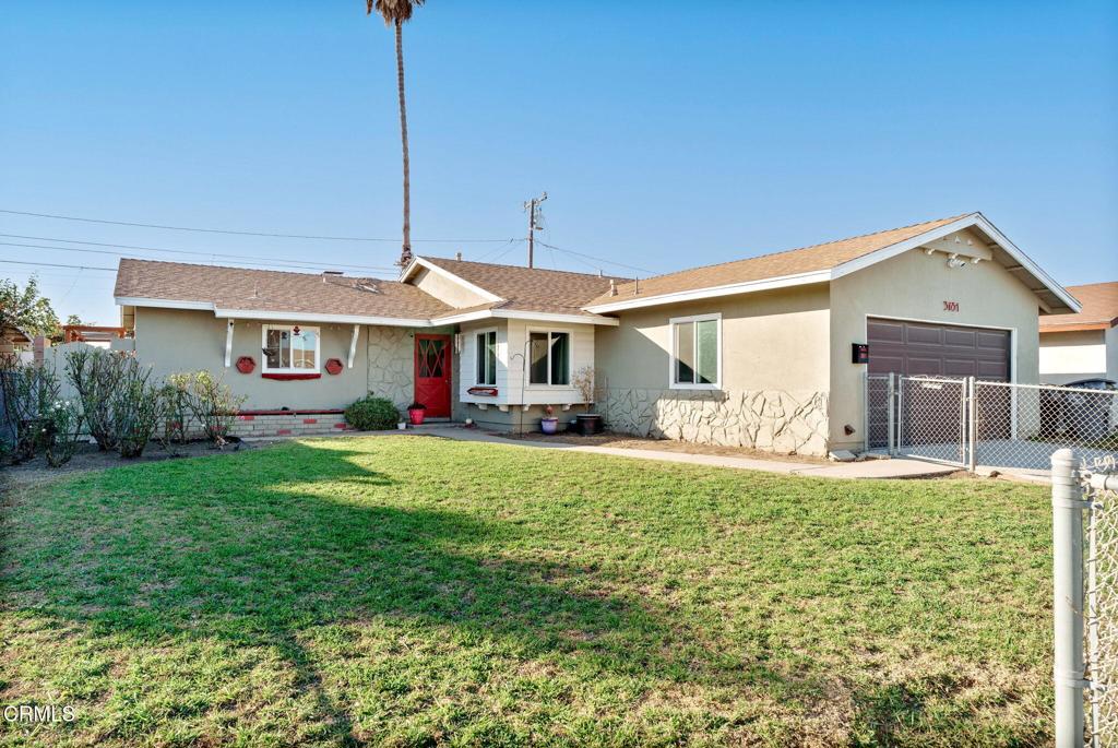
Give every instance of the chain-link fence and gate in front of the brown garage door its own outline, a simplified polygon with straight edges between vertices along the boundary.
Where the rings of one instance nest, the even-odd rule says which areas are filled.
[[[866,449],[968,470],[1046,471],[1057,449],[1118,457],[1118,391],[870,375]]]

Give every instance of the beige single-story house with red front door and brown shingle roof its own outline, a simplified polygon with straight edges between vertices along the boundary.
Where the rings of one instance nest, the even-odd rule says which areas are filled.
[[[980,214],[639,281],[434,257],[398,282],[122,259],[115,296],[141,360],[225,371],[250,409],[372,391],[527,430],[547,405],[584,405],[589,367],[614,429],[804,454],[864,444],[868,371],[1039,381],[1038,310],[1079,309]]]

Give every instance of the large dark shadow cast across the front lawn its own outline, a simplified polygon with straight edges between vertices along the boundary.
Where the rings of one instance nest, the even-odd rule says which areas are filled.
[[[135,468],[85,479],[88,490],[54,499],[57,517],[35,526],[59,536],[35,539],[59,552],[6,581],[17,606],[21,594],[45,598],[37,614],[138,645],[219,636],[274,647],[345,740],[347,709],[301,641],[314,626],[382,617],[499,637],[525,659],[578,653],[580,667],[614,673],[783,681],[704,651],[683,621],[635,591],[601,591],[613,580],[600,571],[503,556],[521,537],[515,524],[424,508],[423,496],[394,505],[413,486],[361,467],[362,455],[293,443],[220,465],[146,465],[150,485]],[[84,530],[67,542],[65,528]]]

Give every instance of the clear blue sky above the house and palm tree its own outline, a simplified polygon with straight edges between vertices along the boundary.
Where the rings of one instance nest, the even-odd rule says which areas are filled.
[[[1060,281],[1118,278],[1115,2],[428,0],[405,54],[416,239],[522,237],[547,190],[543,240],[598,259],[540,265],[647,275],[982,210]],[[0,208],[397,237],[392,55],[360,0],[9,1]],[[116,255],[40,247],[398,253],[6,214],[0,233],[51,239],[0,237],[40,245],[0,259],[63,265]],[[112,273],[39,273],[60,314],[116,319]]]

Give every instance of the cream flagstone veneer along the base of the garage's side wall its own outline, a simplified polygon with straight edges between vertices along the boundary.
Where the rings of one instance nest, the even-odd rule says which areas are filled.
[[[784,454],[827,453],[827,392],[610,388],[597,405],[615,432]]]

